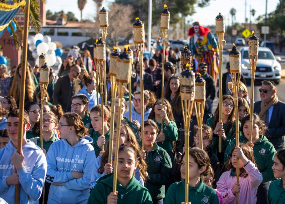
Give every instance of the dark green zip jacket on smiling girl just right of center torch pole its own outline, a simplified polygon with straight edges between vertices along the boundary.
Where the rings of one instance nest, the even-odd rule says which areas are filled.
[[[165,197],[165,184],[170,184],[172,163],[168,153],[154,143],[154,148],[146,152],[148,178],[145,187],[149,190],[152,201],[158,202]]]

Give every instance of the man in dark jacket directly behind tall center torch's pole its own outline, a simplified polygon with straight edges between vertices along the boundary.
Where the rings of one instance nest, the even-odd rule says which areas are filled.
[[[143,76],[144,76],[144,90],[153,91],[154,90],[154,83],[151,74],[146,73],[145,70],[145,64],[142,64],[143,66]],[[135,64],[135,70],[136,70],[136,76],[135,78],[131,78],[131,84],[132,84],[132,93],[135,91],[140,91],[140,63],[137,62]]]

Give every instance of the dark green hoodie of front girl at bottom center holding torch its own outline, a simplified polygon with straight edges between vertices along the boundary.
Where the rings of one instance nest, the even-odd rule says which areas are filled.
[[[97,180],[87,204],[106,204],[107,197],[113,191],[114,173],[106,174]],[[127,186],[122,186],[117,181],[118,200],[117,204],[136,203],[152,204],[150,193],[140,185],[133,176]]]

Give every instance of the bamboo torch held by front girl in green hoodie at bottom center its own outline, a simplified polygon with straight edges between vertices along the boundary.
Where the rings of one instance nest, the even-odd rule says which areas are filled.
[[[125,93],[127,84],[130,81],[132,60],[130,54],[127,52],[125,47],[124,52],[118,57],[117,66],[120,72],[117,73],[116,81],[118,84],[119,97],[115,99],[115,106],[122,107],[122,98]],[[117,118],[117,134],[116,134],[116,146],[115,146],[115,157],[114,157],[114,179],[113,179],[113,192],[116,192],[117,188],[117,170],[118,170],[118,152],[119,152],[119,136],[121,132],[121,111],[118,112]]]

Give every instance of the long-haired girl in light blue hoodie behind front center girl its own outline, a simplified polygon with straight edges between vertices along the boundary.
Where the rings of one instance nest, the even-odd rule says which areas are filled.
[[[144,157],[141,154],[140,147],[135,137],[135,134],[132,132],[131,128],[127,124],[125,123],[121,124],[121,132],[118,139],[119,139],[119,146],[122,145],[130,146],[135,150],[138,156],[138,166],[137,169],[135,170],[135,179],[138,180],[142,186],[144,186],[144,181],[147,179],[146,163]],[[115,154],[116,140],[117,140],[117,128],[114,129],[113,158]],[[99,178],[104,177],[104,175],[113,172],[114,163],[113,162],[112,164],[108,163],[109,144],[110,143],[107,142],[105,152],[102,155],[99,155],[94,162],[94,168],[90,181],[90,190],[94,188]]]

